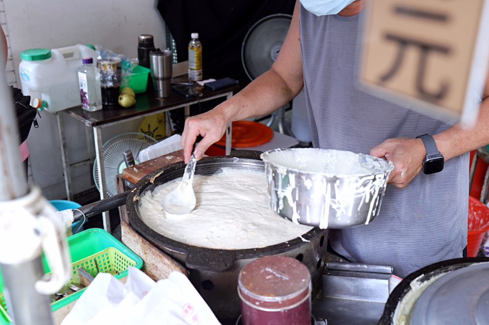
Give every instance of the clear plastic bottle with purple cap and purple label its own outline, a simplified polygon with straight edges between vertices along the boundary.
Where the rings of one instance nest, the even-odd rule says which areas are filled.
[[[83,65],[78,69],[81,106],[89,112],[98,111],[102,109],[100,72],[93,65],[92,58],[83,58],[82,62]]]

